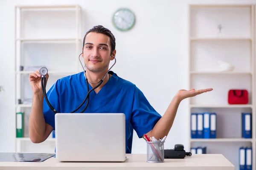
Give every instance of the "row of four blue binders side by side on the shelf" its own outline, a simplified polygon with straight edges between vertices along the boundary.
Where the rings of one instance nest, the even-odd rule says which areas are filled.
[[[191,138],[216,138],[216,113],[191,113]]]

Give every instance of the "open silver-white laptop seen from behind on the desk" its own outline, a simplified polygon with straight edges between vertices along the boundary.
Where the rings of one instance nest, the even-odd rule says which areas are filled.
[[[56,113],[59,161],[125,161],[125,114]]]

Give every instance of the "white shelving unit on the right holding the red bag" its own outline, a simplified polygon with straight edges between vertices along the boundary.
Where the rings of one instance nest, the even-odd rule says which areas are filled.
[[[190,147],[206,146],[207,153],[221,153],[239,169],[239,147],[252,147],[252,169],[256,169],[255,113],[255,6],[189,6],[189,88],[213,88],[213,91],[189,99],[191,113],[217,115],[216,139],[192,139]],[[221,34],[218,29],[221,25]],[[234,66],[223,71],[220,62]],[[229,105],[229,89],[247,89],[247,105]],[[252,113],[252,138],[241,135],[241,113]]]

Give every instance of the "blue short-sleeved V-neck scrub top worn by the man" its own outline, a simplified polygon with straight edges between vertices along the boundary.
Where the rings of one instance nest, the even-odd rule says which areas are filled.
[[[98,94],[90,93],[87,109],[84,113],[124,113],[126,153],[131,153],[133,130],[139,138],[153,129],[161,118],[145,98],[142,91],[133,83],[109,71],[112,77]],[[89,90],[92,87],[89,84]],[[84,72],[58,79],[47,92],[48,100],[58,113],[70,113],[81,105],[87,94]],[[80,113],[84,105],[75,113]],[[45,122],[55,130],[55,114],[44,99]]]

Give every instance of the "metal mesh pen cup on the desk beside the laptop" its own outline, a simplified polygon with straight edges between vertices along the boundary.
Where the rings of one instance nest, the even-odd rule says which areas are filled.
[[[164,162],[164,142],[147,142],[147,162]]]

